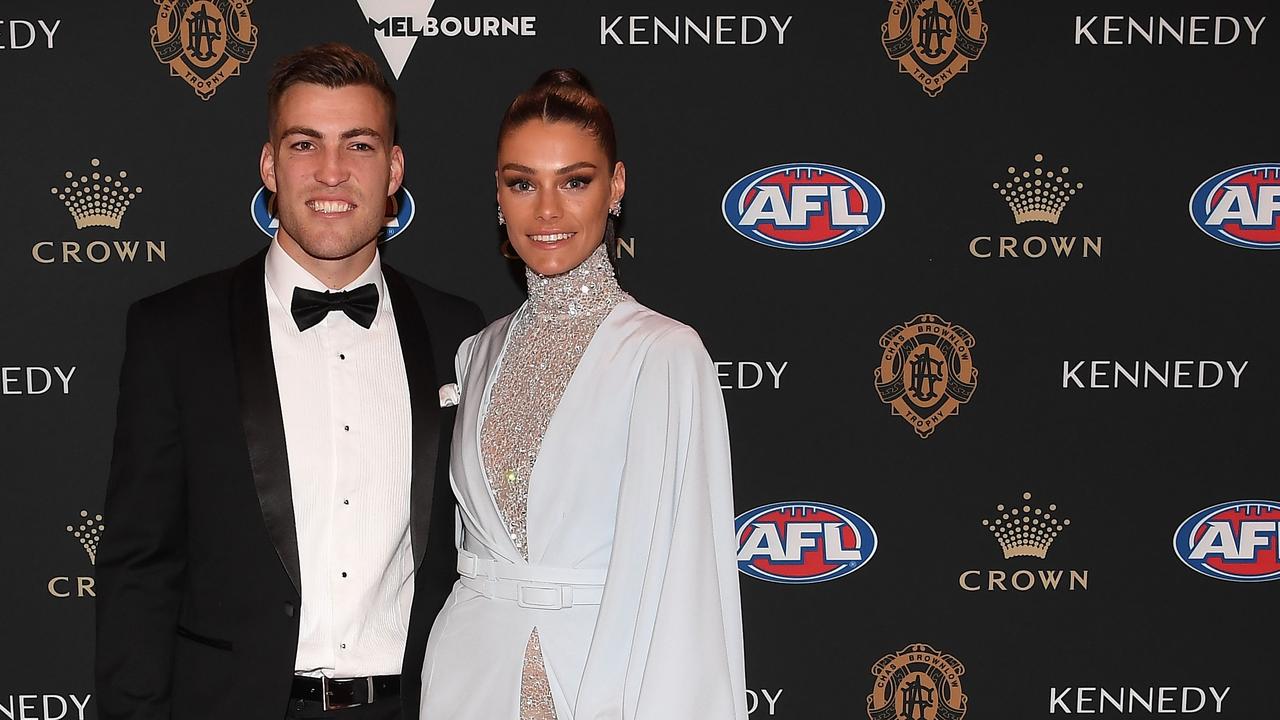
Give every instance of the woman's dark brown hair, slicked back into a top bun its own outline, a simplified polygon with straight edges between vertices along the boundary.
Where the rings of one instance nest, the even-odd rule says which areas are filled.
[[[529,90],[511,101],[498,126],[498,146],[516,128],[530,120],[571,123],[590,133],[609,159],[609,174],[618,161],[618,140],[613,135],[613,118],[591,90],[591,83],[573,68],[553,68],[538,76]],[[609,261],[614,259],[617,234],[613,215],[604,222],[604,243]]]

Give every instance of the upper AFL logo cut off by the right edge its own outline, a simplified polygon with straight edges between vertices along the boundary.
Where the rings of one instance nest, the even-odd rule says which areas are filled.
[[[1192,219],[1213,240],[1252,250],[1280,250],[1280,163],[1224,170],[1192,195]]]

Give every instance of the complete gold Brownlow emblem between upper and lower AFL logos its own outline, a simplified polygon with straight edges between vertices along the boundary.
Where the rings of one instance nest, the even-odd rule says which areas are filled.
[[[978,386],[974,338],[937,315],[916,315],[881,336],[876,391],[922,438],[969,402]]]

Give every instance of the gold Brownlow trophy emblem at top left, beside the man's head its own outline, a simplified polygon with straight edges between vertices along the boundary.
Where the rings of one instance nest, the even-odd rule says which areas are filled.
[[[257,47],[257,28],[248,15],[253,0],[155,0],[151,49],[201,100],[239,74]]]

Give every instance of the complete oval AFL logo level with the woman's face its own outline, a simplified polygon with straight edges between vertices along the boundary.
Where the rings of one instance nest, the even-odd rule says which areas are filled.
[[[852,170],[791,163],[733,183],[722,210],[731,228],[760,245],[822,250],[869,233],[884,217],[884,196]]]

